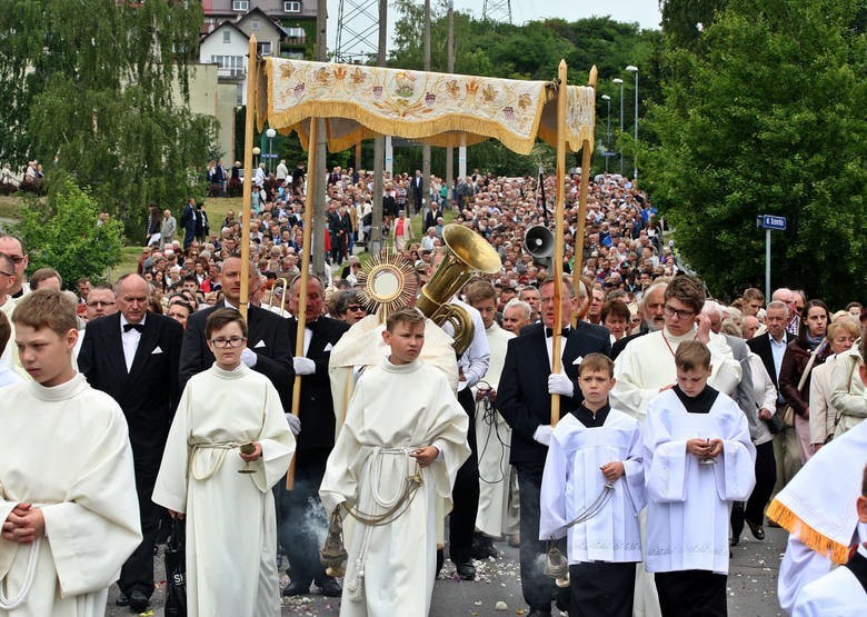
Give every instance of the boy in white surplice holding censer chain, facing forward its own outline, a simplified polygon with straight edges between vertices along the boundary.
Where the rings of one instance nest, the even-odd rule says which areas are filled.
[[[607,356],[581,360],[584,402],[557,424],[545,460],[539,539],[568,533],[570,616],[632,615],[645,506],[641,428],[611,409],[614,385]]]

